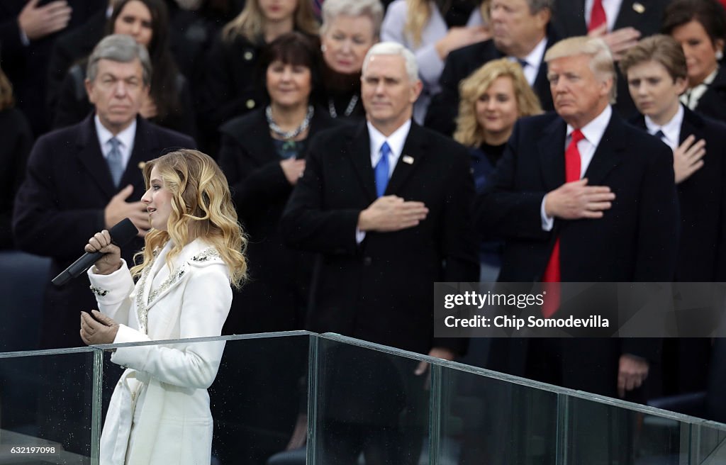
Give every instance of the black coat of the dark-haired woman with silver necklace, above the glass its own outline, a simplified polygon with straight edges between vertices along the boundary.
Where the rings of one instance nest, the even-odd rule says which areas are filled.
[[[333,125],[326,112],[316,111],[307,143]],[[264,110],[234,118],[220,131],[219,165],[248,234],[250,276],[234,294],[224,333],[303,329],[314,255],[282,243],[280,217],[293,186],[280,167]]]

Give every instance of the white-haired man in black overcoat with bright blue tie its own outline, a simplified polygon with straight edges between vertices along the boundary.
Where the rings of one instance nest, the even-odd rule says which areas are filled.
[[[473,179],[464,147],[412,121],[417,76],[404,46],[372,46],[361,76],[367,121],[311,141],[282,234],[319,252],[307,329],[451,360],[465,340],[433,337],[433,283],[478,278]],[[425,419],[413,420],[423,410],[412,405],[425,399],[426,364],[359,363],[349,352],[335,351],[336,376],[328,379],[334,399],[321,417],[336,435],[324,463],[355,463],[362,450],[388,458],[370,463],[417,463]],[[391,395],[396,386],[399,397]]]

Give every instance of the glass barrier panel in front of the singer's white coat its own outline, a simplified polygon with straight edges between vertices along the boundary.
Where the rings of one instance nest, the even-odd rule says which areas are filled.
[[[102,463],[266,464],[298,424],[302,448],[309,341],[288,332],[102,346]]]

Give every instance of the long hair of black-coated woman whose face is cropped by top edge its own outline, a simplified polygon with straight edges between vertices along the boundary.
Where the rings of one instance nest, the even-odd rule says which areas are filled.
[[[231,42],[237,36],[243,36],[254,44],[264,33],[266,21],[259,0],[247,0],[242,12],[222,28],[222,39]],[[319,24],[315,19],[311,1],[298,0],[298,6],[293,13],[293,22],[294,30],[317,36]]]

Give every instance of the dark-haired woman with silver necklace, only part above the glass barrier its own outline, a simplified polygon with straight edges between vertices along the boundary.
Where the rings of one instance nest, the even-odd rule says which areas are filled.
[[[332,120],[311,104],[319,52],[302,33],[264,49],[260,65],[270,104],[222,125],[219,165],[250,235],[250,284],[234,300],[231,332],[302,329],[311,258],[282,244],[278,223],[305,170],[308,141]],[[266,308],[274,312],[260,311]]]

